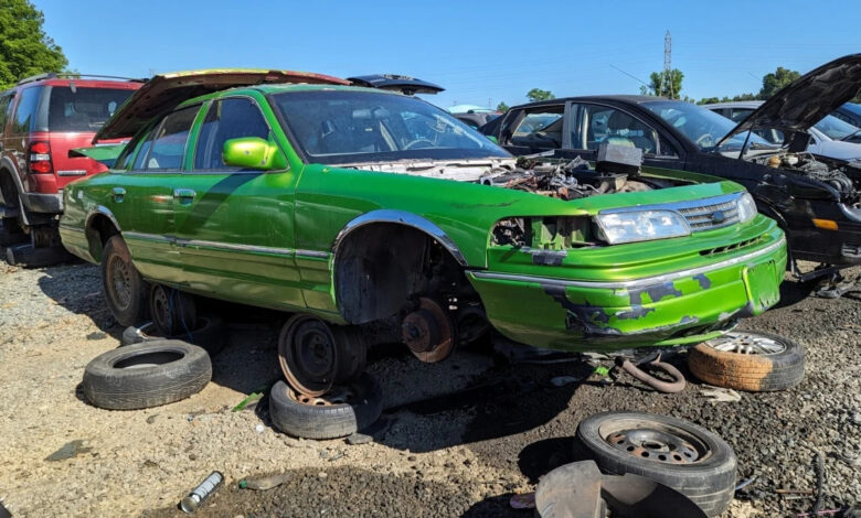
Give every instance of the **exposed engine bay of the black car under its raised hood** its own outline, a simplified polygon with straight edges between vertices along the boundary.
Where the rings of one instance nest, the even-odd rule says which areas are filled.
[[[818,180],[833,187],[839,193],[841,203],[851,208],[861,208],[861,163],[858,161],[841,163],[838,160],[815,157],[807,152],[757,157],[751,161]]]

